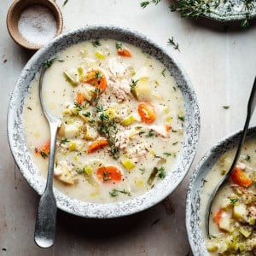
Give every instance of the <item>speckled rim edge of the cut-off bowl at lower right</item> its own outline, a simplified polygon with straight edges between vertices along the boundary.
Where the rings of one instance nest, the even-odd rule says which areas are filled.
[[[196,251],[197,246],[195,244],[195,241],[193,240],[194,236],[192,234],[192,230],[193,230],[193,227],[195,226],[195,224],[191,224],[191,212],[192,212],[191,204],[193,202],[192,195],[194,192],[195,182],[201,173],[207,172],[208,168],[210,168],[210,167],[208,167],[207,169],[205,169],[206,171],[201,170],[203,168],[203,166],[207,163],[207,161],[211,159],[212,155],[218,154],[215,151],[217,151],[219,148],[223,148],[226,144],[231,143],[231,141],[233,139],[238,140],[241,137],[241,132],[242,132],[241,129],[232,131],[230,134],[228,134],[228,135],[222,137],[220,140],[218,140],[218,142],[215,143],[212,146],[212,148],[209,148],[207,150],[207,152],[201,157],[201,160],[195,166],[195,170],[192,173],[191,177],[189,178],[189,185],[188,185],[187,195],[186,195],[186,230],[187,230],[187,236],[189,238],[189,245],[190,245],[192,253],[194,255],[197,255],[197,253],[198,253],[198,251]],[[246,140],[248,139],[248,137],[252,137],[254,133],[256,134],[256,124],[253,124],[249,127],[249,129],[247,131]],[[235,145],[235,147],[236,147],[236,145]],[[233,146],[230,145],[229,148],[226,148],[225,152],[230,150],[231,148],[234,148],[234,145]],[[224,153],[221,153],[221,154],[224,154]],[[216,159],[216,161],[214,163],[216,163],[217,161],[218,161],[218,158]],[[209,172],[211,172],[211,170],[212,169],[208,170],[207,174]],[[199,205],[199,212],[201,209],[200,206],[201,205]],[[198,221],[200,221],[200,219],[198,219]],[[201,226],[199,228],[201,230]],[[198,234],[198,233],[196,233],[196,234]],[[205,242],[204,237],[202,237],[202,239]],[[199,244],[199,246],[202,247],[201,243]]]

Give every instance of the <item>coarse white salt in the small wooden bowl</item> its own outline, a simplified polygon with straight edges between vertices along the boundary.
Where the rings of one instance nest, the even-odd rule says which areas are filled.
[[[20,15],[18,30],[28,43],[44,45],[55,38],[57,31],[55,16],[48,8],[34,5],[25,9]]]

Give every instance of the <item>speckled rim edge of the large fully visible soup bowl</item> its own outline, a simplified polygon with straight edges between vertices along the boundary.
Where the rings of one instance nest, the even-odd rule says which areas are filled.
[[[65,212],[69,212],[74,215],[78,215],[80,217],[86,217],[86,218],[118,218],[121,216],[131,215],[136,212],[141,212],[143,210],[148,209],[149,207],[153,207],[155,204],[157,204],[158,202],[165,199],[166,196],[170,195],[172,193],[172,191],[177,188],[177,186],[182,182],[185,175],[189,172],[189,168],[195,158],[195,153],[196,153],[196,149],[198,146],[198,140],[199,140],[199,135],[200,135],[199,106],[198,106],[197,98],[195,95],[195,90],[189,80],[187,73],[184,72],[183,67],[181,67],[180,64],[176,60],[174,60],[172,55],[167,53],[166,50],[162,49],[158,44],[155,44],[150,38],[144,36],[142,33],[137,32],[135,30],[118,27],[118,26],[84,26],[81,28],[76,28],[76,29],[70,30],[64,34],[61,34],[59,37],[55,38],[49,44],[44,46],[44,48],[39,49],[38,52],[35,55],[33,55],[32,58],[26,63],[26,66],[23,68],[22,72],[20,73],[20,78],[18,79],[17,83],[15,84],[15,89],[10,98],[9,110],[8,110],[8,138],[9,138],[9,146],[11,148],[11,152],[14,156],[17,166],[19,166],[21,174],[23,175],[23,177],[25,177],[27,183],[29,183],[29,185],[33,189],[35,189],[39,195],[41,195],[44,190],[42,190],[42,188],[37,187],[37,186],[39,186],[38,183],[37,184],[32,183],[29,180],[26,170],[25,171],[22,170],[22,167],[23,167],[22,160],[19,159],[18,154],[15,154],[17,152],[17,150],[15,150],[15,147],[17,148],[17,146],[15,146],[15,139],[14,139],[14,137],[16,135],[13,130],[15,121],[11,119],[11,117],[15,116],[15,105],[14,105],[15,93],[18,93],[18,89],[19,89],[18,87],[20,84],[22,84],[22,79],[24,79],[26,77],[26,73],[28,70],[31,69],[33,63],[38,59],[41,60],[40,57],[44,56],[47,53],[47,51],[49,51],[49,49],[51,49],[53,47],[55,47],[55,49],[57,49],[56,46],[61,43],[61,40],[64,41],[64,39],[67,39],[68,37],[72,37],[74,34],[85,33],[85,32],[88,33],[88,32],[93,32],[95,30],[96,31],[100,30],[103,32],[104,31],[118,32],[120,35],[125,33],[128,36],[131,36],[132,38],[136,38],[137,40],[139,40],[139,42],[147,42],[147,44],[149,44],[153,49],[160,50],[160,53],[163,55],[166,55],[166,57],[168,58],[168,61],[171,62],[172,65],[177,67],[179,75],[182,77],[183,81],[185,82],[186,89],[189,90],[189,92],[188,92],[189,100],[191,101],[191,106],[194,109],[193,117],[195,119],[193,119],[194,122],[190,127],[191,133],[193,133],[194,137],[190,137],[188,139],[188,141],[189,141],[188,143],[189,143],[189,147],[191,148],[191,152],[189,152],[190,154],[188,154],[188,159],[186,159],[185,169],[182,169],[183,170],[182,175],[179,177],[179,179],[177,180],[175,185],[172,186],[172,188],[168,188],[168,189],[164,190],[163,193],[161,193],[161,194],[158,193],[155,196],[151,196],[151,197],[148,196],[148,195],[150,195],[150,193],[148,194],[148,192],[151,191],[151,194],[152,194],[153,193],[152,191],[155,188],[160,187],[159,186],[160,183],[163,184],[164,182],[167,182],[166,178],[165,178],[163,181],[161,181],[159,184],[157,184],[157,186],[155,186],[153,189],[150,189],[150,190],[148,190],[148,192],[143,193],[143,195],[139,195],[139,196],[137,196],[131,200],[128,200],[128,201],[120,201],[120,202],[116,202],[116,203],[104,203],[104,204],[96,204],[96,203],[78,201],[78,200],[70,198],[70,197],[68,197],[67,201],[65,201],[64,200],[65,196],[60,191],[55,189],[55,197],[57,199],[57,207],[59,207],[61,210],[65,211]],[[106,36],[106,37],[102,37],[102,38],[111,38],[111,37]],[[92,38],[90,38],[90,39],[92,39]],[[87,39],[86,41],[89,41],[90,39]],[[75,44],[77,44],[77,43],[79,43],[79,42],[76,42]],[[71,46],[73,44],[74,43],[67,45],[65,47],[65,49],[67,49],[68,46]],[[130,43],[130,44],[132,44],[132,43]],[[58,51],[59,51],[59,49],[58,49]],[[154,57],[156,57],[156,56],[154,55]],[[41,62],[41,64],[42,63],[43,62]],[[33,72],[35,72],[35,70],[33,70]],[[168,173],[170,173],[170,172],[168,172]],[[44,183],[45,183],[45,181],[44,181]],[[164,186],[164,185],[162,185],[162,186]],[[158,190],[154,190],[154,191],[158,192]],[[63,201],[58,201],[58,199],[59,199],[58,196],[60,196],[61,200],[63,200]],[[68,205],[71,203],[72,203],[72,206]],[[84,207],[86,208],[85,212],[84,212]]]

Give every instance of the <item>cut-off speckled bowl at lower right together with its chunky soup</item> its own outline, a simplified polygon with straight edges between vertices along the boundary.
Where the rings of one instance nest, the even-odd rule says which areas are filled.
[[[236,133],[213,148],[201,161],[191,179],[187,201],[187,228],[191,247],[198,253],[196,255],[255,255],[255,128],[249,131],[230,180],[220,189],[212,203],[210,237],[206,234],[207,202],[213,189],[230,170],[240,136],[241,132]],[[200,247],[197,241],[202,241]]]

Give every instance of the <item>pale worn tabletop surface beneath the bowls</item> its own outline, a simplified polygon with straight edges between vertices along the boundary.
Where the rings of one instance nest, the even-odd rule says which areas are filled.
[[[33,242],[38,195],[15,167],[6,135],[9,97],[31,55],[9,38],[5,17],[11,2],[2,0],[0,9],[0,255],[189,255],[185,230],[188,179],[213,143],[242,127],[256,73],[255,21],[241,31],[239,26],[212,20],[183,20],[169,12],[167,0],[147,9],[141,9],[137,0],[69,0],[61,8],[65,30],[94,24],[126,26],[143,32],[175,55],[198,96],[201,139],[189,175],[166,201],[146,212],[112,220],[58,212],[55,247],[43,250]],[[61,5],[64,0],[56,2]],[[166,45],[172,36],[180,52]],[[223,105],[231,107],[224,109]],[[253,120],[255,123],[256,115]]]

